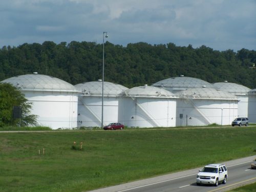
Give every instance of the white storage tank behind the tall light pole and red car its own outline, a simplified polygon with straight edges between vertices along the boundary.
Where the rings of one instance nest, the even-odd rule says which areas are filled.
[[[118,95],[128,89],[122,85],[104,81],[103,125],[118,122]],[[78,99],[78,127],[101,127],[102,81],[75,85],[81,90]]]

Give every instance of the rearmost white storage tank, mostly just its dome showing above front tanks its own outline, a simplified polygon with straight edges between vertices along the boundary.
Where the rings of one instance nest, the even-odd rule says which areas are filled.
[[[154,83],[152,86],[164,88],[166,90],[171,91],[172,93],[177,93],[181,90],[186,90],[189,88],[196,87],[209,87],[213,88],[212,84],[203,81],[201,79],[192,78],[192,77],[184,77],[181,75],[180,77],[168,78]]]

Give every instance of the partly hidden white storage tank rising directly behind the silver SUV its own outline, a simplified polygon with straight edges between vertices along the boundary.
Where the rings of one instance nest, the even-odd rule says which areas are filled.
[[[227,81],[214,83],[213,85],[217,90],[227,91],[236,95],[238,97],[238,116],[248,116],[248,92],[251,90],[250,88]]]

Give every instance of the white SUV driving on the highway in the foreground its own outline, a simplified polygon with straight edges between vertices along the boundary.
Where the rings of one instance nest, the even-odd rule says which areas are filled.
[[[197,174],[197,185],[214,184],[218,186],[220,181],[227,182],[227,168],[224,164],[209,164]]]

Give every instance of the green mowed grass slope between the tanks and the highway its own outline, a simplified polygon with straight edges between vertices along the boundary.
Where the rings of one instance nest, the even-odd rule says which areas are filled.
[[[87,191],[256,155],[255,135],[255,126],[0,132],[0,191]]]

